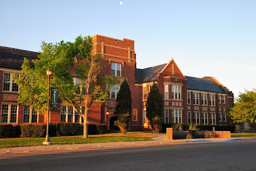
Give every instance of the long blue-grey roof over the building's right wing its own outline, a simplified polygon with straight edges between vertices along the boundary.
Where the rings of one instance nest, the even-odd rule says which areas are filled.
[[[196,78],[192,76],[186,76],[186,79],[188,90],[200,90],[229,94],[228,91],[226,91],[213,79]]]

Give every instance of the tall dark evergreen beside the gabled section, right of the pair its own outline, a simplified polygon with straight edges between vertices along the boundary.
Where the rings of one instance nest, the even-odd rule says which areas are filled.
[[[163,98],[159,93],[157,85],[154,83],[149,91],[149,96],[146,102],[147,119],[154,132],[159,132],[163,125]]]

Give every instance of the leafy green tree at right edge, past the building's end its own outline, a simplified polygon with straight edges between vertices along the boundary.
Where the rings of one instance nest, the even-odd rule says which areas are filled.
[[[244,93],[239,93],[233,107],[228,113],[234,123],[252,122],[256,120],[256,90],[245,90]]]

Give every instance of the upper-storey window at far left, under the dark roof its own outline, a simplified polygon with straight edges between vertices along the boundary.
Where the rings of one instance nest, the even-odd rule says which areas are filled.
[[[14,83],[12,73],[4,73],[3,91],[19,91],[19,86],[16,83]]]

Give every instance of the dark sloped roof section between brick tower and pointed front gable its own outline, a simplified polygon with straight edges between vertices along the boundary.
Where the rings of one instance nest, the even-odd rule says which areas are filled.
[[[135,83],[147,83],[157,80],[157,74],[160,73],[167,63],[158,66],[152,66],[150,68],[137,69]]]

